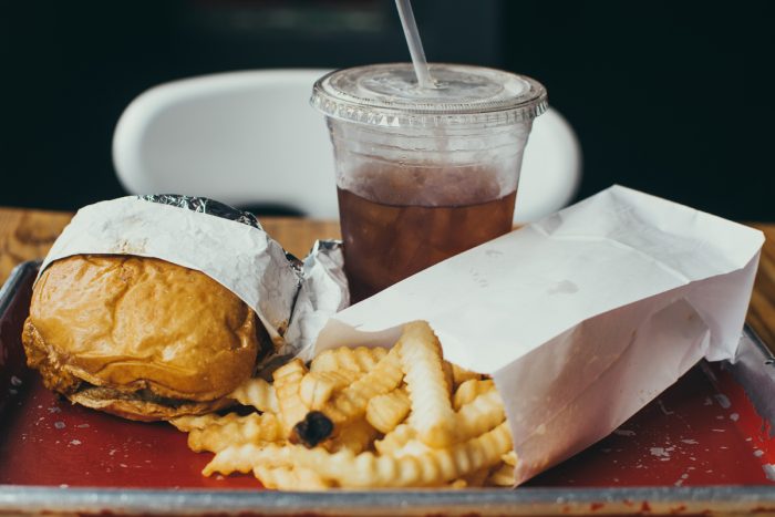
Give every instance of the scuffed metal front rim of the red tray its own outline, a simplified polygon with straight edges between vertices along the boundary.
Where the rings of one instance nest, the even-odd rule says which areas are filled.
[[[643,504],[648,502],[644,508]],[[720,504],[723,506],[720,507]],[[122,514],[193,515],[258,513],[278,515],[312,513],[316,515],[422,515],[428,511],[498,514],[518,509],[527,513],[602,510],[611,506],[617,513],[660,513],[659,507],[683,511],[713,507],[716,510],[757,510],[775,513],[775,487],[626,487],[626,488],[519,488],[466,490],[198,490],[198,489],[91,489],[18,487],[0,485],[0,513],[24,511],[104,511]],[[607,511],[600,511],[607,513]]]

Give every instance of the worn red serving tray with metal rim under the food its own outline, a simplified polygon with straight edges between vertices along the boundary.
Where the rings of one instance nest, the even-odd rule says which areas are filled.
[[[25,368],[20,343],[35,271],[35,263],[22,265],[0,292],[0,514],[356,514],[358,505],[410,514],[775,511],[775,368],[750,334],[734,365],[699,364],[609,437],[516,490],[331,490],[289,499],[250,476],[202,476],[211,455],[190,452],[186,435],[168,424],[125,421],[45,390]],[[364,494],[368,502],[359,499]]]

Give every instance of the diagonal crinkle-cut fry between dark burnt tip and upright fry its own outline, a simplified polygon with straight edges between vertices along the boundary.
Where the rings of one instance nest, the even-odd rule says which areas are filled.
[[[401,384],[403,371],[401,370],[401,341],[385,354],[369,372],[361,375],[355,382],[334,396],[321,409],[334,424],[334,435],[340,426],[351,420],[358,418],[366,411],[369,401],[383,393],[388,393]]]

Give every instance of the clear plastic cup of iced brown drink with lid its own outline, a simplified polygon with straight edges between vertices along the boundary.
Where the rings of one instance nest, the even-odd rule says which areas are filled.
[[[311,103],[327,115],[353,301],[512,229],[523,152],[546,90],[499,70],[410,63],[340,70]]]

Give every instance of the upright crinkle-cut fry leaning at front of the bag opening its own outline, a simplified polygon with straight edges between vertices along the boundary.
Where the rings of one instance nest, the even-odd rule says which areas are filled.
[[[442,370],[442,348],[424,321],[404,325],[395,348],[401,351],[401,365],[412,399],[412,423],[420,440],[432,447],[446,447],[455,442],[455,413]]]

